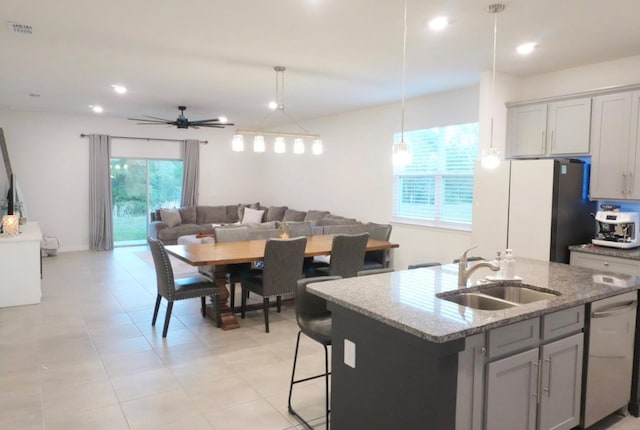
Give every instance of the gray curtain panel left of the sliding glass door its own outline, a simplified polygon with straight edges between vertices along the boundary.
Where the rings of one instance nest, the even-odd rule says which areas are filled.
[[[89,245],[92,251],[113,249],[111,137],[89,136]]]

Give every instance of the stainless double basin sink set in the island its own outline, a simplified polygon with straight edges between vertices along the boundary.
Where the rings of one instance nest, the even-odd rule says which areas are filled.
[[[500,282],[474,288],[440,293],[438,298],[483,311],[497,311],[559,296],[557,291],[521,282]]]

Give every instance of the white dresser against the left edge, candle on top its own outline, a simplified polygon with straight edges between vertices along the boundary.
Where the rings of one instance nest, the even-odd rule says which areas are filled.
[[[20,234],[0,235],[0,307],[40,303],[40,241],[37,222],[20,226]]]

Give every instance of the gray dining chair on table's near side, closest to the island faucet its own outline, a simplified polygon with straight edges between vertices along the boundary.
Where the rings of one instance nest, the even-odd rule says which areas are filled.
[[[331,258],[327,267],[313,267],[307,277],[341,276],[352,278],[364,269],[364,253],[369,233],[336,234],[331,243]]]

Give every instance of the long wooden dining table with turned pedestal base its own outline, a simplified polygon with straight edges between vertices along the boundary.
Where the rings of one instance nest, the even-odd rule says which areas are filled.
[[[334,235],[314,235],[307,237],[305,257],[331,255]],[[192,266],[213,266],[211,275],[218,286],[218,295],[207,305],[207,315],[215,320],[223,330],[239,328],[240,324],[234,309],[228,305],[227,289],[228,266],[233,264],[253,263],[264,259],[264,248],[267,240],[242,240],[235,242],[207,242],[186,245],[167,245],[167,253]],[[398,248],[399,245],[385,240],[369,239],[367,251],[381,251]]]

